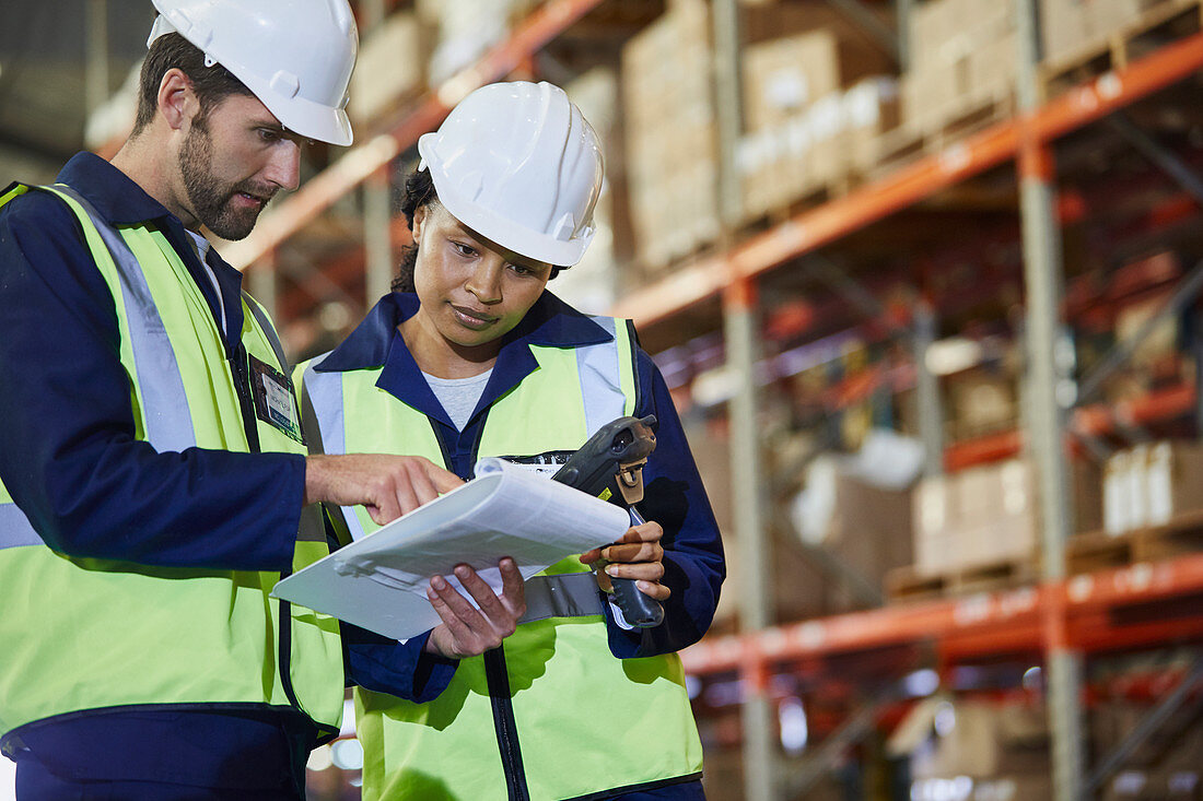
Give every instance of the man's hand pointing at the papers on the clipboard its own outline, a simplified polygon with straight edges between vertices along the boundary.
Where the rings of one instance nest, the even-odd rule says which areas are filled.
[[[348,453],[306,457],[304,503],[363,505],[384,526],[463,481],[422,456]]]

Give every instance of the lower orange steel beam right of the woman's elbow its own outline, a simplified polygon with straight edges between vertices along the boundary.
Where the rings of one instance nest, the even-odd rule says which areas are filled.
[[[753,634],[703,640],[682,651],[681,660],[686,670],[701,675],[741,669],[747,671],[753,666],[751,663],[771,665],[792,659],[929,641],[948,642],[958,653],[964,651],[956,643],[973,642],[977,655],[990,651],[991,641],[996,652],[1012,652],[1024,647],[1035,649],[1041,646],[1041,624],[1045,610],[1056,604],[1063,604],[1067,617],[1065,635],[1071,645],[1091,649],[1106,648],[1121,639],[1144,641],[1145,637],[1137,635],[1142,627],[1150,628],[1154,624],[1134,623],[1098,633],[1092,625],[1075,625],[1075,619],[1080,618],[1086,623],[1100,610],[1196,593],[1203,593],[1203,553],[1071,576],[1061,582],[1037,587],[890,606]],[[1196,619],[1193,623],[1175,622],[1173,628],[1187,635],[1203,627]],[[983,634],[991,636],[983,637]]]

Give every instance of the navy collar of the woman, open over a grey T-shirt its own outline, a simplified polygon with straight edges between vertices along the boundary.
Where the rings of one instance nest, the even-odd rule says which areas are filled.
[[[315,361],[313,368],[328,373],[383,367],[375,384],[378,387],[455,432],[450,416],[434,397],[397,330],[401,322],[417,313],[419,305],[414,293],[386,295],[343,344],[325,358]],[[539,367],[531,345],[574,348],[612,339],[614,334],[545,291],[522,321],[502,339],[493,373],[461,437],[470,437],[479,415]]]

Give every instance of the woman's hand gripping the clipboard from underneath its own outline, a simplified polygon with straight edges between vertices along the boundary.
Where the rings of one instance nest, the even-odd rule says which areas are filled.
[[[514,634],[518,618],[526,613],[522,574],[510,558],[502,559],[498,566],[502,569],[500,595],[493,593],[475,570],[466,564],[456,565],[456,578],[480,609],[468,603],[443,576],[431,578],[426,597],[443,623],[431,631],[426,651],[449,659],[478,657]]]

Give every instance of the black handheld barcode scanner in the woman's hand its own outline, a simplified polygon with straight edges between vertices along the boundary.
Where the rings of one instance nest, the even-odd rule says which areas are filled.
[[[656,450],[656,417],[618,417],[589,437],[552,477],[569,487],[626,506],[633,524],[646,522],[635,504],[644,499],[644,465]],[[633,578],[611,578],[615,600],[632,625],[652,628],[664,621],[664,607],[635,587]]]

